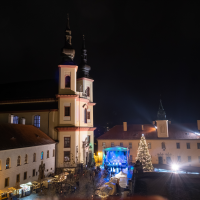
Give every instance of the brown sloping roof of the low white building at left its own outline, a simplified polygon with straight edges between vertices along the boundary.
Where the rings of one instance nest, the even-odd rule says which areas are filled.
[[[54,140],[33,125],[0,124],[0,150],[54,143]]]

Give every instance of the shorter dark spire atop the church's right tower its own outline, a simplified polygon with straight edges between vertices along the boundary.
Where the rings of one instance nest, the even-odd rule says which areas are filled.
[[[85,47],[85,36],[83,35],[83,45],[82,45],[82,53],[81,53],[81,62],[79,65],[79,73],[78,78],[89,78],[89,71],[91,67],[87,65],[87,50]]]

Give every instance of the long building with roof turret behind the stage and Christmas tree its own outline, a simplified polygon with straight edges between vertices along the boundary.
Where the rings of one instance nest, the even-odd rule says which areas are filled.
[[[157,119],[152,124],[116,125],[100,136],[98,154],[109,147],[128,147],[129,161],[135,162],[138,144],[144,134],[153,164],[179,163],[182,166],[200,167],[200,120],[196,124],[173,124],[166,119],[160,101]],[[112,148],[110,149],[112,151]]]

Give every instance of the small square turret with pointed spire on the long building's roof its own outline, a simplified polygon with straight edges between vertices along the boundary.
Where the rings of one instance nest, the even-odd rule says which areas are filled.
[[[168,120],[166,119],[166,113],[164,111],[162,101],[160,99],[160,105],[157,113],[157,134],[158,137],[169,137],[168,134]]]

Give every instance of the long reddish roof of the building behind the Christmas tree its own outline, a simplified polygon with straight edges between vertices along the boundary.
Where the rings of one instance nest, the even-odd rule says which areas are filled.
[[[152,124],[144,124],[143,130],[141,124],[128,125],[127,131],[123,131],[123,125],[116,125],[101,135],[98,140],[139,140],[142,134],[146,139],[200,139],[200,136],[194,134],[194,132],[199,133],[197,124],[169,124],[169,137],[159,138],[155,126]]]

